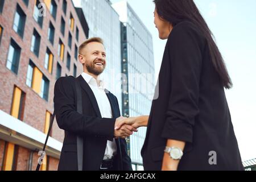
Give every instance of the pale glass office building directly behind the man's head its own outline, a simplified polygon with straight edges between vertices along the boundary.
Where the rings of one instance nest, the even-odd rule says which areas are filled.
[[[109,0],[83,0],[80,6],[90,28],[89,38],[97,36],[104,40],[107,65],[102,73],[102,78],[105,81],[105,88],[117,96],[119,106],[122,108],[119,15]]]

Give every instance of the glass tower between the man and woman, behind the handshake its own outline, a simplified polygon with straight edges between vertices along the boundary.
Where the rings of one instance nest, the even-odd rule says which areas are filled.
[[[155,86],[152,35],[127,1],[114,3],[112,7],[121,20],[121,67],[128,85],[122,93],[123,116],[149,115]],[[146,127],[141,127],[127,141],[133,167],[137,170],[143,169],[141,148],[145,135]]]

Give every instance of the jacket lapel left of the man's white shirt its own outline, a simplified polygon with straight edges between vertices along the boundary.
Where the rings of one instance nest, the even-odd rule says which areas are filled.
[[[100,109],[98,107],[98,103],[97,100],[93,94],[92,89],[90,89],[90,86],[88,85],[88,83],[84,80],[84,78],[80,75],[78,77],[80,84],[81,84],[81,88],[85,90],[85,92],[88,94],[90,101],[92,102],[93,105],[93,109],[96,111],[96,114],[98,117],[101,118],[101,112]]]

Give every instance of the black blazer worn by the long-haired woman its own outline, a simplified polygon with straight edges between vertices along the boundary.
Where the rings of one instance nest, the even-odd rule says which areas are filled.
[[[173,28],[157,86],[141,151],[144,169],[161,169],[167,139],[186,142],[178,170],[243,169],[224,86],[207,40],[192,23]]]

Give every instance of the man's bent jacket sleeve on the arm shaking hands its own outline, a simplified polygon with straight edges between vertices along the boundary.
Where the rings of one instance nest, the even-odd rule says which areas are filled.
[[[54,88],[54,109],[60,129],[113,140],[115,118],[97,118],[76,111],[75,78],[60,77]]]

